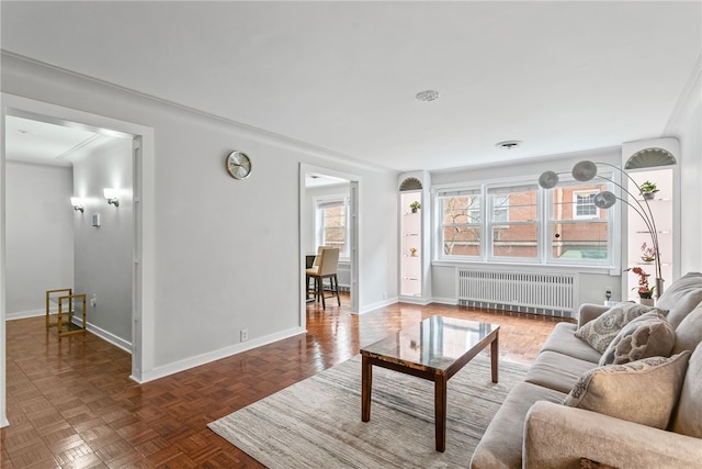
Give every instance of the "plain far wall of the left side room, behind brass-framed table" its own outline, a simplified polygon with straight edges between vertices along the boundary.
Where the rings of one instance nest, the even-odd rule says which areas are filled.
[[[7,317],[43,314],[45,292],[73,287],[70,167],[7,161]]]

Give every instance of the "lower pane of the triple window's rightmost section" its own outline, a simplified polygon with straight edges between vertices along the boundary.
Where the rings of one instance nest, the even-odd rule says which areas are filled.
[[[605,222],[554,223],[551,227],[554,259],[607,259]]]

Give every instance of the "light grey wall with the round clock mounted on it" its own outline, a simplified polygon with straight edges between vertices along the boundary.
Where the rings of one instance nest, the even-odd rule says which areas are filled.
[[[360,304],[396,289],[396,174],[71,74],[2,57],[2,91],[154,129],[154,362],[146,379],[299,333],[298,165],[361,177]],[[253,171],[230,178],[233,149]],[[389,213],[389,215],[388,215]],[[375,221],[381,221],[376,223]],[[281,281],[278,272],[292,273]],[[271,286],[275,291],[271,291]],[[239,348],[237,348],[239,347]]]

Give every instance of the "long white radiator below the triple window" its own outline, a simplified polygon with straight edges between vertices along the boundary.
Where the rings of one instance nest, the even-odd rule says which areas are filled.
[[[575,317],[577,273],[500,272],[457,269],[458,304]]]

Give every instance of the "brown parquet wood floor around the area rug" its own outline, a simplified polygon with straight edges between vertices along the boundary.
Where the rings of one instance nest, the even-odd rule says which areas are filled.
[[[553,320],[398,303],[363,315],[308,305],[306,335],[145,384],[131,356],[88,333],[58,340],[43,317],[8,321],[10,426],[1,466],[19,468],[260,468],[206,424],[344,361],[405,325],[440,314],[500,324],[500,359],[531,362]],[[359,407],[360,418],[360,407]]]

